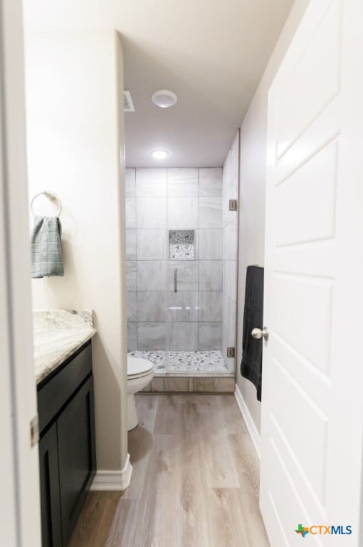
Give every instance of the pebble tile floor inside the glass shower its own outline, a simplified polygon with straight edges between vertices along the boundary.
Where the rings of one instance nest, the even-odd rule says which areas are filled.
[[[129,355],[147,359],[155,373],[228,373],[221,351],[130,351]],[[169,365],[169,366],[168,366]]]

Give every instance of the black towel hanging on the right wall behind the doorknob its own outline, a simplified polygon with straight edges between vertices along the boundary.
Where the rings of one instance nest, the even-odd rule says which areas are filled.
[[[241,375],[256,386],[261,401],[263,339],[252,338],[253,328],[263,328],[263,268],[258,266],[247,268]]]

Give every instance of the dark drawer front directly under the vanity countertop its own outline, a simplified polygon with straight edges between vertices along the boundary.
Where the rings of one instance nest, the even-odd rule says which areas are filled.
[[[48,383],[38,389],[40,432],[53,420],[53,417],[90,373],[92,373],[92,349],[90,342],[88,342],[75,358],[71,359],[56,375],[52,375]]]

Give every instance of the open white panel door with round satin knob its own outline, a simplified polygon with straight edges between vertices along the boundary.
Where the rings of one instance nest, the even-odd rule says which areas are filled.
[[[362,28],[362,0],[312,0],[269,93],[261,511],[272,547],[363,545]]]

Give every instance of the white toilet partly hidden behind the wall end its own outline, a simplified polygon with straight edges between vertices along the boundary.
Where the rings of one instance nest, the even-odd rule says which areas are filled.
[[[154,376],[151,361],[127,355],[127,431],[135,429],[139,420],[135,405],[135,393],[144,389]]]

